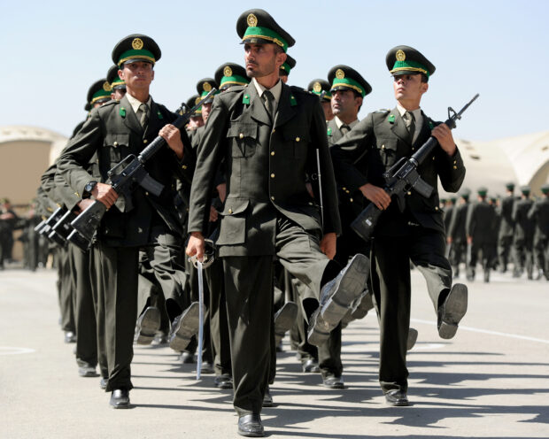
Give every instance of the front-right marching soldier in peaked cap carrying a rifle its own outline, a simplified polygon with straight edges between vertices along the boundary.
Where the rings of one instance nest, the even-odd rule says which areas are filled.
[[[410,260],[427,280],[437,312],[438,333],[452,338],[467,310],[467,287],[452,286],[452,269],[445,258],[445,227],[438,207],[437,180],[448,192],[460,189],[465,167],[450,128],[436,124],[420,108],[435,72],[418,50],[398,46],[386,65],[393,75],[397,107],[373,112],[332,148],[336,174],[345,186],[360,192],[383,210],[375,227],[372,283],[380,319],[379,380],[390,405],[407,405],[406,344],[410,325]],[[337,77],[337,74],[336,74]],[[342,81],[344,74],[339,74]],[[409,157],[430,136],[440,148],[419,166],[424,181],[434,188],[429,199],[411,191],[404,212],[383,190],[383,173],[399,158]]]

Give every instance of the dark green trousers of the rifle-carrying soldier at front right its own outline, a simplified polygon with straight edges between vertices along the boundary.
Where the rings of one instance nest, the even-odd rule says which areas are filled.
[[[407,390],[410,260],[425,277],[437,311],[440,294],[452,286],[452,269],[444,255],[445,235],[421,226],[408,226],[403,236],[374,239],[372,283],[381,328],[379,381],[384,393]]]

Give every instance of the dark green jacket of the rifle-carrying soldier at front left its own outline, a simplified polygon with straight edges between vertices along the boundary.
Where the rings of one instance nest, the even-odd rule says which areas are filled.
[[[81,130],[69,141],[58,159],[58,172],[77,196],[94,177],[86,170],[97,154],[100,182],[108,182],[108,172],[130,154],[138,155],[154,140],[159,129],[176,119],[177,115],[165,106],[152,101],[149,122],[145,130],[124,96],[92,110]],[[173,233],[182,234],[181,223],[174,207],[174,175],[190,181],[195,155],[189,138],[181,130],[184,147],[179,160],[167,146],[145,163],[153,179],[164,185],[160,196],[138,187],[132,194],[134,208],[128,212],[124,200],[105,213],[99,229],[99,239],[112,246],[142,246],[149,243],[153,224],[165,224]]]

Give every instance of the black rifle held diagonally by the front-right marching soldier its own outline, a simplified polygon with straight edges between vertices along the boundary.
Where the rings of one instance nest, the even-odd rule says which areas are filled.
[[[455,128],[456,120],[461,119],[461,114],[468,109],[470,104],[473,104],[478,96],[476,94],[460,112],[456,113],[452,107],[448,107],[448,120],[445,121],[445,124],[450,129]],[[395,165],[390,167],[389,171],[383,173],[383,179],[385,180],[383,189],[389,196],[397,196],[400,212],[403,212],[405,208],[404,196],[411,189],[414,189],[425,198],[431,196],[434,188],[421,179],[417,168],[429,157],[437,145],[437,139],[431,135],[429,140],[423,143],[411,158],[400,158]],[[382,212],[374,203],[368,204],[366,209],[360,212],[360,215],[352,221],[352,229],[364,240],[369,239],[374,233],[375,225]]]

